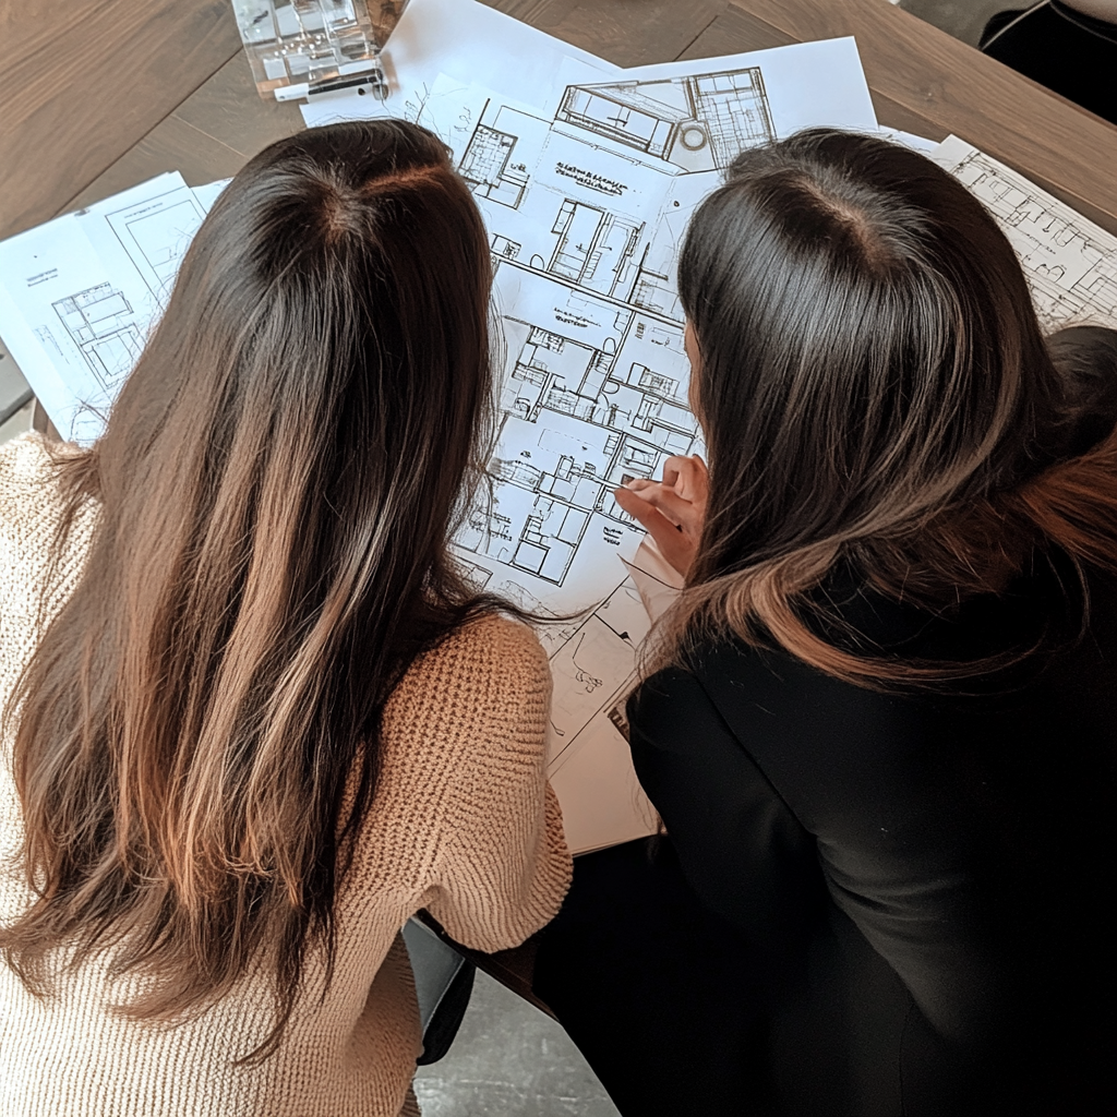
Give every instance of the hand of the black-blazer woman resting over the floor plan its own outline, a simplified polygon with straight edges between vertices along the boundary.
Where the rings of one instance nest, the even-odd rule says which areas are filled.
[[[647,528],[663,557],[685,577],[698,550],[708,493],[709,471],[695,455],[668,458],[661,481],[638,477],[613,496]]]

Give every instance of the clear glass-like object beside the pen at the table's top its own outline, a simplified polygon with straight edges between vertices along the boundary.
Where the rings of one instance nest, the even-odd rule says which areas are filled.
[[[403,0],[232,0],[256,88],[268,99],[281,86],[365,70],[382,86],[380,48],[402,9]]]

